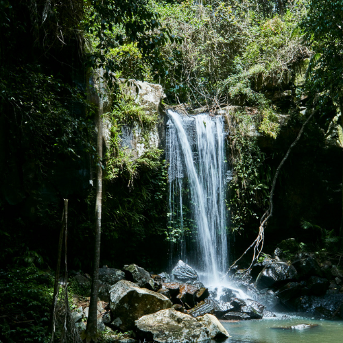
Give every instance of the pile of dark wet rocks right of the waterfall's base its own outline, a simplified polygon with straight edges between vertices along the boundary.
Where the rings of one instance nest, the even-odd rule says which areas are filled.
[[[270,311],[312,312],[323,318],[343,318],[343,274],[330,261],[319,264],[315,255],[298,253],[287,262],[276,248],[273,258],[256,263],[250,275],[231,278]]]

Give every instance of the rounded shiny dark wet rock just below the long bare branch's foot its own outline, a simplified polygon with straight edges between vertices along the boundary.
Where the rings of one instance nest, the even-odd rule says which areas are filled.
[[[293,265],[284,262],[274,262],[263,268],[257,276],[257,289],[269,288],[276,285],[285,284],[287,281],[297,279],[298,273]]]

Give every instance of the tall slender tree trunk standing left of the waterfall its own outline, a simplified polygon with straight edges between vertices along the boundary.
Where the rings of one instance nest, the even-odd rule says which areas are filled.
[[[102,100],[102,71],[99,73],[99,112],[97,119],[97,155],[99,161],[97,163],[97,185],[96,185],[96,200],[95,200],[95,249],[93,259],[93,275],[91,287],[91,302],[89,304],[88,320],[86,327],[86,342],[96,342],[97,334],[97,295],[99,292],[99,261],[100,261],[100,241],[102,232],[102,115],[103,115],[103,100]]]

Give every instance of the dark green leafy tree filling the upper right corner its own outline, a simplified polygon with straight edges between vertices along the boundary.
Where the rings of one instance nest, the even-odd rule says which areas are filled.
[[[333,100],[340,109],[343,128],[343,1],[310,1],[300,25],[314,51],[307,70],[307,87],[322,113],[328,100]],[[343,190],[340,237],[343,238]]]

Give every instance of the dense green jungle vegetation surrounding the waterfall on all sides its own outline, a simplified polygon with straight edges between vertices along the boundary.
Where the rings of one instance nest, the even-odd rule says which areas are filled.
[[[314,113],[276,185],[266,244],[297,234],[308,248],[342,254],[342,23],[342,0],[0,0],[0,340],[49,342],[64,198],[69,270],[91,270],[99,163],[101,265],[167,265],[163,150],[148,139],[138,159],[121,149],[124,125],[147,134],[161,117],[145,115],[123,80],[161,84],[165,106],[233,106],[228,209],[237,254]],[[98,69],[112,125],[103,161],[87,96]]]

